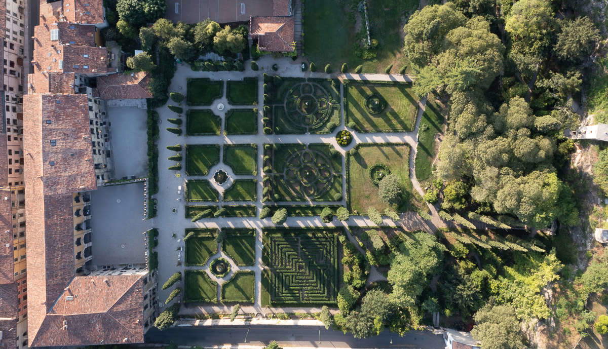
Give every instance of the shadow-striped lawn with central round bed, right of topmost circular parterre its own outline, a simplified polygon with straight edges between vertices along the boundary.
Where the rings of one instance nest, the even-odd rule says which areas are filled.
[[[411,87],[404,83],[348,83],[345,105],[347,123],[354,122],[362,132],[412,131],[418,103]],[[379,114],[370,114],[365,107],[370,95],[378,95],[386,102]]]

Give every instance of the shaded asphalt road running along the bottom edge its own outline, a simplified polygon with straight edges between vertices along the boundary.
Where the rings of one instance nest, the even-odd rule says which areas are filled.
[[[320,336],[320,340],[319,340]],[[420,348],[443,349],[440,335],[429,331],[413,331],[399,337],[389,331],[367,339],[355,339],[341,331],[325,330],[316,326],[212,326],[177,327],[165,331],[151,328],[146,334],[147,343],[173,342],[177,345],[266,345],[277,340],[282,347],[334,347],[334,348]]]

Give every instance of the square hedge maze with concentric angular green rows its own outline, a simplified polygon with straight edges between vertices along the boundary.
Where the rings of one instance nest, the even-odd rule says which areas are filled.
[[[341,229],[264,231],[267,290],[275,304],[336,303]]]

